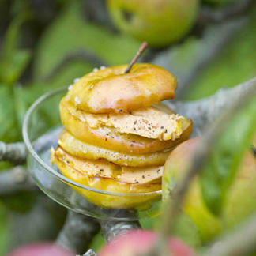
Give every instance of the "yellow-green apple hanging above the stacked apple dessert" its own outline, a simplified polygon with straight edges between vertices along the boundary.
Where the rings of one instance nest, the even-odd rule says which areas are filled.
[[[194,25],[199,0],[108,0],[115,25],[152,47],[167,47]]]

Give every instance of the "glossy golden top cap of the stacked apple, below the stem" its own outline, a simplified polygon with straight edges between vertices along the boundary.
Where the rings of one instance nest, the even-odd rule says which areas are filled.
[[[177,81],[160,66],[134,64],[88,73],[67,94],[70,104],[91,113],[126,112],[173,99]]]

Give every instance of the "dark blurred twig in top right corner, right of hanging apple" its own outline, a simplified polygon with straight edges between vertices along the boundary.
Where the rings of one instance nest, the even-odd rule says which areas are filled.
[[[223,22],[235,17],[245,15],[255,4],[255,0],[237,1],[233,5],[228,5],[223,8],[203,7],[199,13],[198,22],[207,24],[209,22]]]

